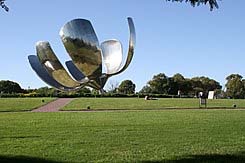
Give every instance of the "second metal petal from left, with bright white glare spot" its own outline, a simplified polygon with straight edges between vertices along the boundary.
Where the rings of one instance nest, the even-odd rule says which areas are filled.
[[[50,76],[66,87],[80,87],[80,83],[73,80],[64,69],[56,55],[54,54],[50,44],[40,41],[36,44],[37,56],[40,63],[46,68]]]

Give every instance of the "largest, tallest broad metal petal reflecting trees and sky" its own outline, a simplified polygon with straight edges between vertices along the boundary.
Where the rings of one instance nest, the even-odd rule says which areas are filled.
[[[90,21],[74,19],[60,30],[66,51],[76,67],[89,79],[102,74],[101,51]]]

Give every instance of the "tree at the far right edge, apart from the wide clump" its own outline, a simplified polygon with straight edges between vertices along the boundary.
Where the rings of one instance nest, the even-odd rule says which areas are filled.
[[[244,98],[245,84],[242,80],[242,76],[239,74],[231,74],[226,77],[226,95],[230,98]]]

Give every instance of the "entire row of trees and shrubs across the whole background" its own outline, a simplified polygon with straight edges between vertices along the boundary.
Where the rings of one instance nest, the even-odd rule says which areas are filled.
[[[106,90],[105,96],[123,96],[123,95],[164,95],[169,96],[186,96],[198,97],[199,92],[208,95],[209,91],[214,91],[219,98],[245,98],[245,79],[240,74],[231,74],[226,77],[225,88],[222,90],[220,83],[209,77],[185,78],[182,74],[177,73],[171,77],[164,73],[153,76],[145,86],[139,91],[135,91],[136,85],[132,80],[124,80],[119,83],[111,83]],[[81,88],[76,92],[61,92],[54,88],[41,87],[38,89],[22,89],[16,82],[9,80],[0,81],[0,96],[19,94],[21,97],[36,96],[96,96],[99,95],[97,90],[87,87]],[[162,96],[161,96],[162,97]]]

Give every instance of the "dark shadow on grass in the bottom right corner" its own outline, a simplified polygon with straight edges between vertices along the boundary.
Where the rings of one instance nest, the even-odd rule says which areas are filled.
[[[173,160],[152,160],[142,161],[143,163],[245,163],[245,153],[237,155],[219,155],[219,154],[207,154],[207,155],[190,155],[184,156]]]

